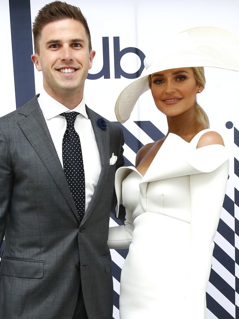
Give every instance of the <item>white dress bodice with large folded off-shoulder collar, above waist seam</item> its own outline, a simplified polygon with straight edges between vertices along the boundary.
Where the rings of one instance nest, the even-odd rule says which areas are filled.
[[[197,149],[199,138],[207,131],[211,130],[200,131],[190,143],[169,133],[144,176],[133,166],[120,167],[115,176],[118,206],[132,211],[133,219],[152,211],[190,223],[190,176],[212,172],[228,160],[223,145]]]

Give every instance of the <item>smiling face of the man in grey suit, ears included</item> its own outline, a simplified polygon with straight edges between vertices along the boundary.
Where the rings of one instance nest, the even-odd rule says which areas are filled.
[[[83,25],[73,19],[47,23],[39,39],[39,54],[32,60],[43,73],[46,92],[77,94],[82,92],[95,51],[89,51],[88,37]]]

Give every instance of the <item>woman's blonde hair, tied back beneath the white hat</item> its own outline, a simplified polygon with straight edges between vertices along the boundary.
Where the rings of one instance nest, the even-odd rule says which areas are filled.
[[[204,75],[204,67],[203,66],[193,67],[192,70],[193,70],[193,74],[194,74],[194,77],[195,77],[197,84],[205,87],[206,79],[205,79],[205,75]],[[151,86],[151,83],[152,83],[151,75],[149,75],[148,76],[149,87]],[[196,108],[198,122],[202,126],[205,126],[208,129],[209,128],[208,116],[206,115],[206,112],[204,111],[204,109],[202,107],[200,107],[200,105],[198,104],[197,99],[195,101],[195,108]]]

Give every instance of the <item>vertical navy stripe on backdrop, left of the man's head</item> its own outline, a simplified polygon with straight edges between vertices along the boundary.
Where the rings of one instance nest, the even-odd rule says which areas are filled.
[[[9,0],[16,106],[35,95],[30,0]]]

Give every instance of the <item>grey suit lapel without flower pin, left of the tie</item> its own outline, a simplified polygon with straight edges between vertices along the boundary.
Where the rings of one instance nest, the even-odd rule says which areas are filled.
[[[47,128],[46,121],[38,104],[37,97],[38,96],[34,97],[24,107],[19,109],[19,113],[25,115],[25,118],[19,121],[18,125],[47,168],[71,210],[76,215],[76,218],[79,220],[76,205]]]

